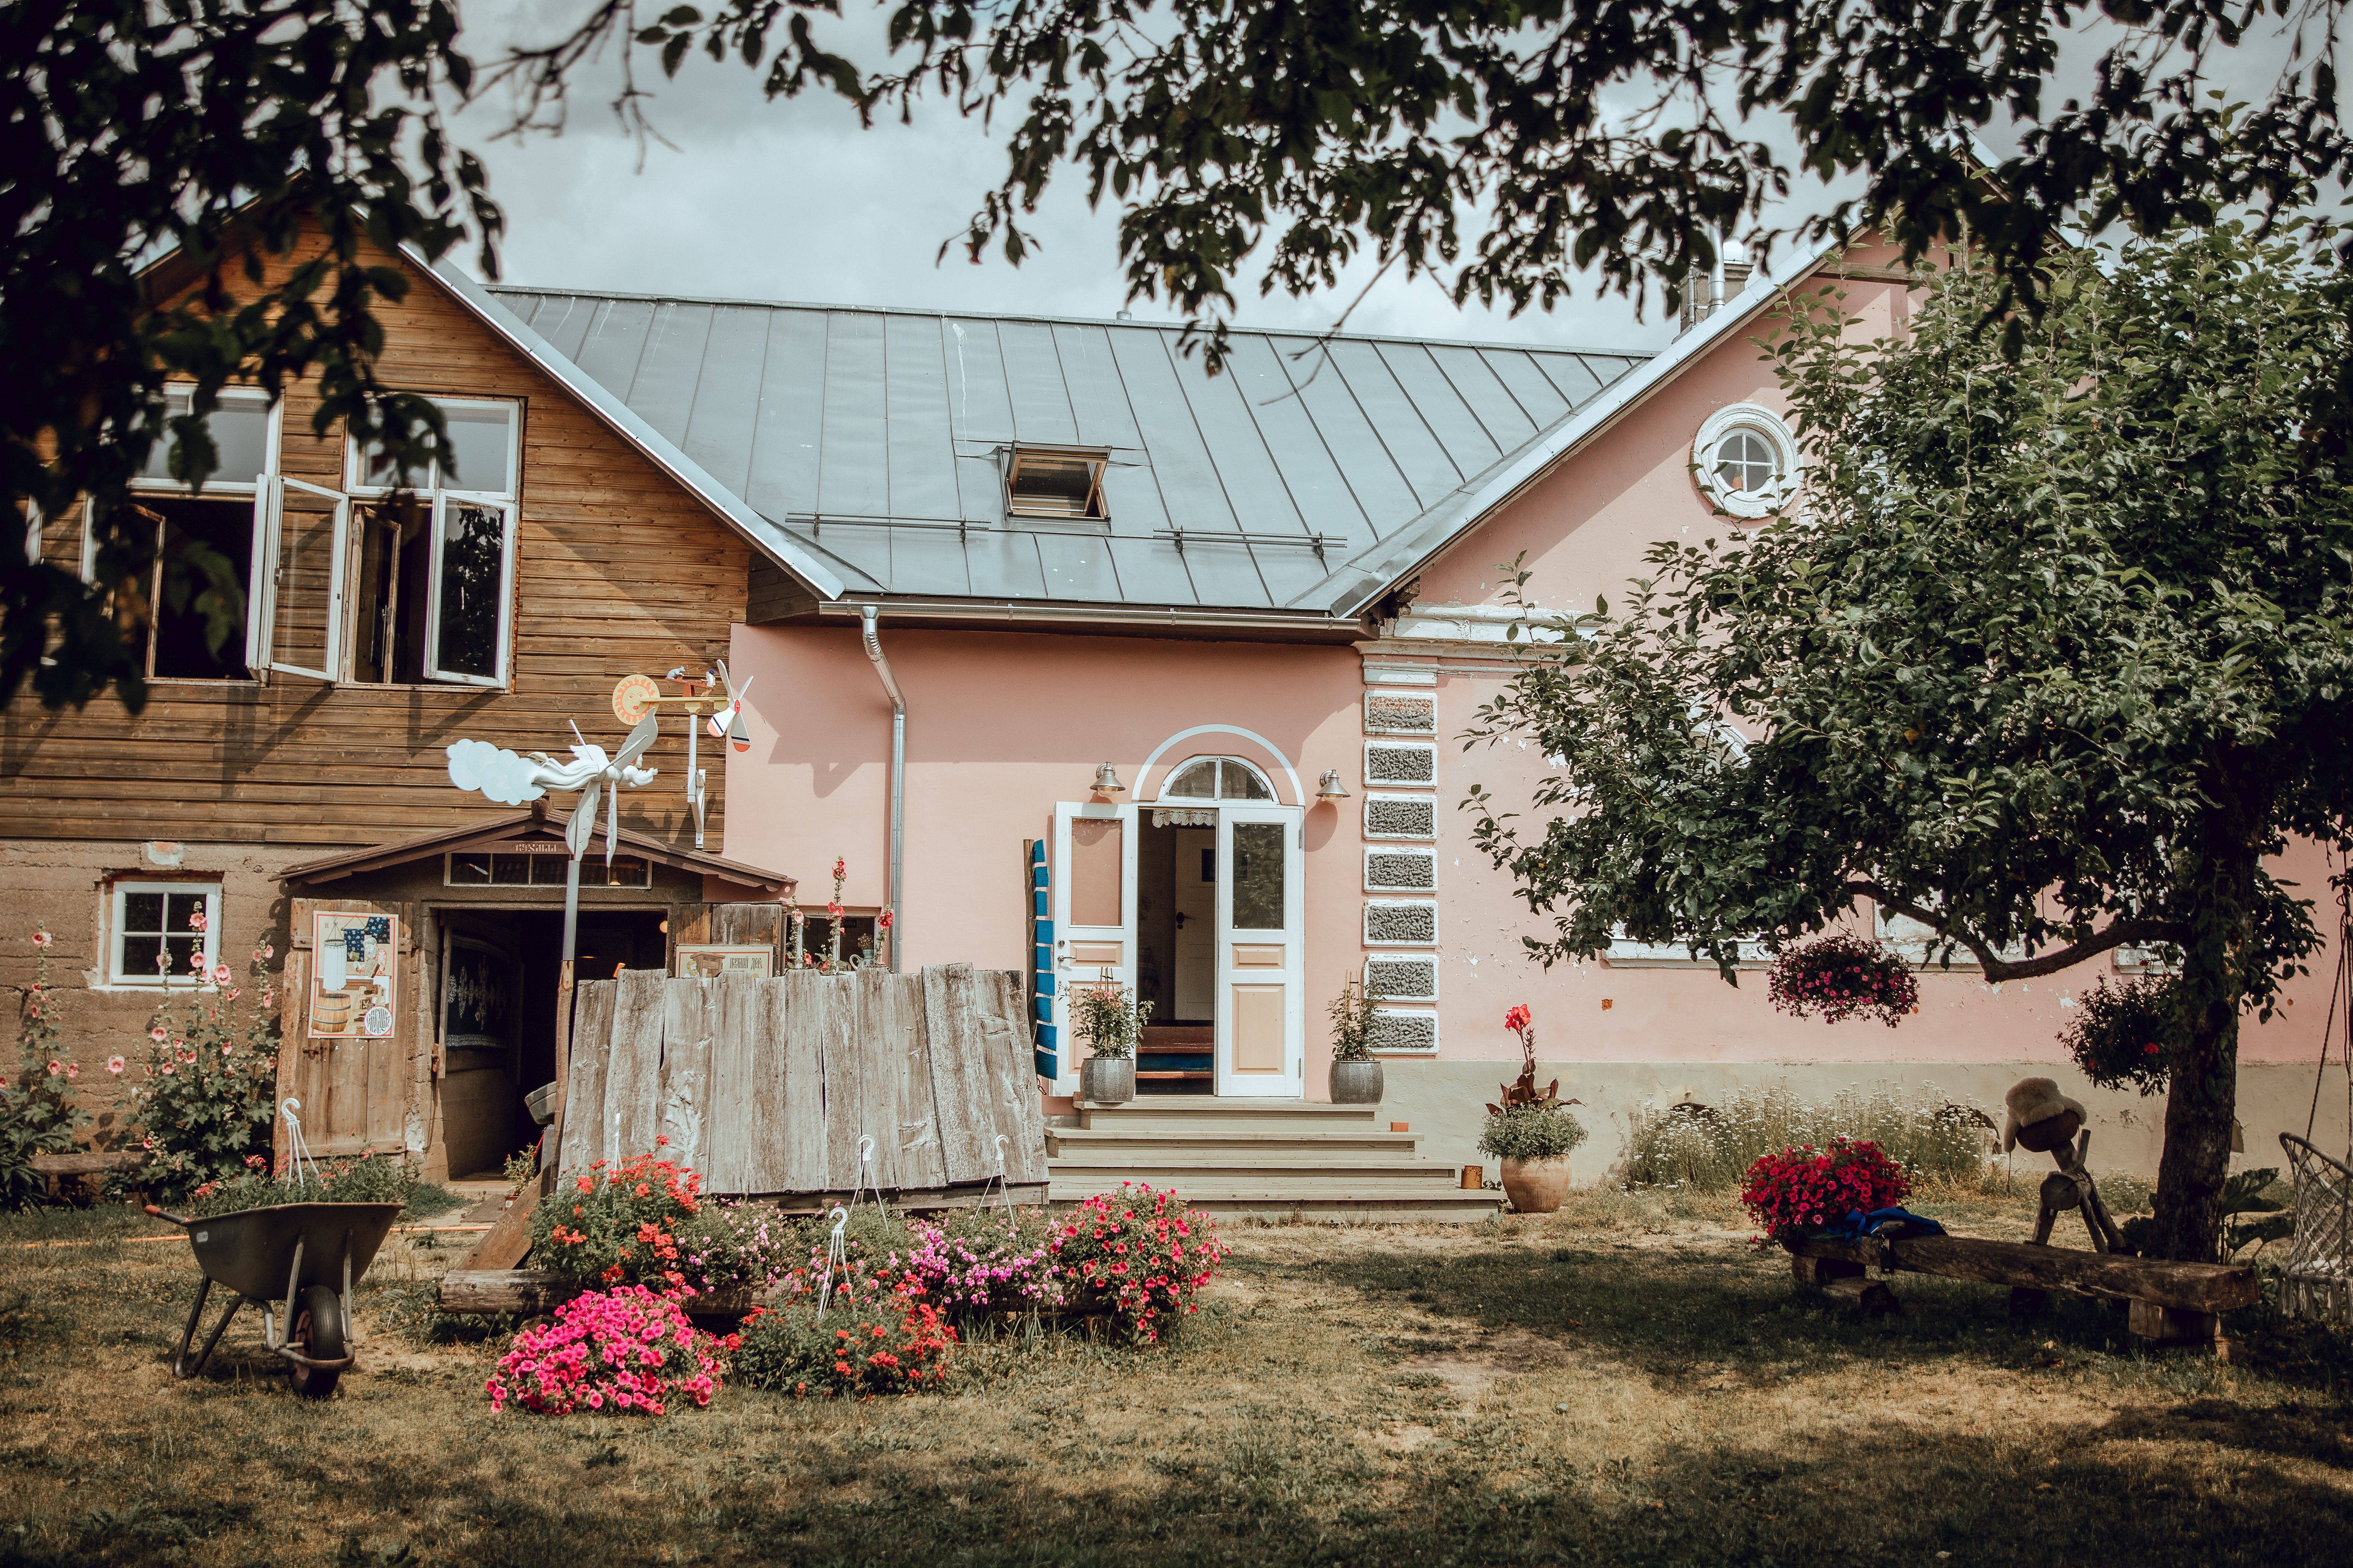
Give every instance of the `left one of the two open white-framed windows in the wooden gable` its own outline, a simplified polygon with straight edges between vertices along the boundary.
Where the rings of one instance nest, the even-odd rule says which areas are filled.
[[[167,390],[169,416],[184,418],[191,397],[191,388]],[[148,449],[132,477],[129,510],[151,529],[153,552],[115,592],[141,602],[141,661],[146,675],[160,679],[247,679],[266,663],[254,607],[275,569],[268,510],[278,404],[266,393],[224,388],[219,407],[205,416],[205,433],[216,465],[202,494],[172,477],[169,435]]]

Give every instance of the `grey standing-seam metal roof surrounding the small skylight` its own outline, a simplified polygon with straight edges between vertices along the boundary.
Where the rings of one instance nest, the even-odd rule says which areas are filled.
[[[845,597],[1327,614],[1647,355],[499,287]],[[1111,456],[1108,520],[1012,520],[1012,444]]]

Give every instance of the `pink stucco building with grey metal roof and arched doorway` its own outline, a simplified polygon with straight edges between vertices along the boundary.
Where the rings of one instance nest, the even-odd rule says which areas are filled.
[[[1468,785],[1508,802],[1544,769],[1459,741],[1515,668],[1504,562],[1537,602],[1591,607],[1652,541],[1802,484],[1755,339],[1817,280],[1901,329],[1908,284],[1871,249],[1734,273],[1649,360],[1238,334],[1219,378],[1134,322],[501,301],[802,550],[753,567],[727,649],[755,689],[727,856],[800,867],[805,900],[845,858],[849,929],[894,907],[896,964],[1038,973],[1049,1112],[1078,1084],[1071,980],[1108,971],[1191,1025],[1153,1041],[1148,1093],[1315,1100],[1325,1006],[1360,978],[1388,1114],[1440,1159],[1475,1159],[1525,1001],[1586,1105],[1588,1178],[1647,1100],[1786,1081],[1998,1117],[2026,1070],[2094,1105],[2097,1164],[2153,1171],[2162,1105],[2092,1093],[2054,1044],[2106,959],[1925,973],[1899,1030],[1800,1023],[1762,976],[1729,987],[1680,950],[1537,969],[1520,933],[1548,922],[1468,842]],[[2247,1023],[2254,1157],[2306,1124],[2315,969]]]

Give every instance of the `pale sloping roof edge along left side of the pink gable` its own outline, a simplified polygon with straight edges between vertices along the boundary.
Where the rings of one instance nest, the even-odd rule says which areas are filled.
[[[1409,524],[1391,534],[1391,538],[1365,545],[1353,557],[1341,562],[1339,569],[1315,583],[1315,588],[1294,595],[1285,607],[1299,607],[1311,597],[1327,592],[1339,578],[1353,574],[1358,583],[1339,599],[1332,599],[1325,614],[1360,614],[1391,583],[1409,576],[1440,550],[1485,522],[1492,512],[1515,501],[1527,487],[1537,484],[1555,465],[1567,461],[1586,440],[1600,435],[1621,414],[1633,411],[1652,393],[1680,376],[1685,367],[1694,364],[1704,353],[1715,348],[1725,336],[1748,327],[1758,315],[1769,310],[1781,294],[1805,282],[1805,277],[1821,268],[1824,261],[1845,252],[1852,240],[1852,235],[1826,240],[1819,249],[1807,252],[1798,266],[1791,266],[1779,275],[1767,273],[1762,277],[1765,287],[1753,289],[1758,296],[1755,303],[1739,310],[1722,308],[1706,317],[1668,343],[1666,350],[1605,386],[1591,402],[1586,402],[1586,407],[1569,409],[1558,423],[1553,423],[1551,430],[1539,430],[1518,451],[1508,451],[1501,461],[1489,463],[1478,475],[1471,475],[1440,496],[1438,503],[1424,508],[1424,512]],[[1402,557],[1405,564],[1398,564],[1402,550],[1412,550],[1412,555]]]

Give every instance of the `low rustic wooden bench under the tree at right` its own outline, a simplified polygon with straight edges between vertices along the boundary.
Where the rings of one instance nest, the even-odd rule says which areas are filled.
[[[1894,1295],[1882,1274],[1941,1274],[2009,1286],[2017,1316],[2038,1312],[2052,1291],[2127,1302],[2127,1328],[2144,1347],[2214,1349],[2219,1316],[2264,1298],[2252,1267],[2224,1262],[2169,1262],[2120,1253],[2078,1253],[2028,1241],[1979,1241],[1974,1237],[1913,1237],[1911,1241],[1786,1241],[1791,1272],[1800,1286],[1828,1291],[1864,1309],[1889,1309]]]

